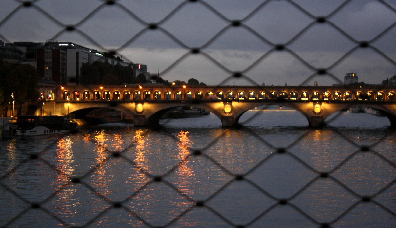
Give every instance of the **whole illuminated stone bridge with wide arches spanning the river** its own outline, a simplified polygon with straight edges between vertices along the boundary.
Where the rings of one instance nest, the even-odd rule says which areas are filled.
[[[46,112],[88,113],[109,107],[133,119],[135,126],[156,126],[160,117],[175,107],[192,106],[210,111],[224,127],[238,126],[249,109],[279,105],[290,107],[308,119],[309,126],[324,126],[329,115],[353,107],[380,110],[396,128],[394,87],[347,86],[81,86],[62,87]]]

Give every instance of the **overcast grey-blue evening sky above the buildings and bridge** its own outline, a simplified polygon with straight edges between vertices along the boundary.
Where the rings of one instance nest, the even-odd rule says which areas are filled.
[[[187,1],[178,8],[183,2],[185,1],[120,0],[114,5],[100,8],[83,20],[104,1],[33,1],[32,4],[39,9],[20,7],[20,1],[1,1],[0,39],[6,42],[45,42],[53,39],[74,42],[97,50],[119,50],[118,55],[124,60],[146,64],[151,74],[159,71],[160,76],[166,80],[187,81],[196,78],[200,82],[213,85],[263,82],[266,85],[313,85],[315,80],[319,85],[331,85],[337,82],[329,75],[318,75],[307,80],[316,71],[288,50],[315,69],[331,67],[329,73],[342,82],[344,75],[349,72],[357,73],[359,81],[366,83],[381,83],[396,74],[396,25],[393,26],[396,23],[396,0],[385,0],[388,6],[380,1],[352,0],[335,14],[331,13],[344,0],[207,0]],[[210,10],[206,4],[221,16]],[[123,10],[123,7],[141,21]],[[167,17],[176,8],[178,10]],[[60,33],[65,27],[53,22],[40,9],[64,25],[76,25],[76,29],[100,46],[78,31]],[[11,12],[13,13],[9,16]],[[386,57],[371,47],[358,48],[333,66],[358,44],[330,23],[316,23],[299,34],[316,21],[307,13],[314,17],[330,15],[327,20],[352,39],[374,40],[371,45]],[[246,25],[248,29],[245,26],[227,28],[230,25],[227,19],[244,19],[242,25]],[[159,23],[160,29],[145,30],[147,25],[144,23]],[[162,29],[168,33],[164,33]],[[388,30],[383,33],[386,29]],[[222,30],[223,33],[219,34]],[[377,38],[381,33],[383,34]],[[219,35],[216,36],[217,34]],[[293,39],[297,34],[299,36]],[[171,36],[179,42],[175,42]],[[212,41],[208,44],[209,40]],[[273,44],[286,44],[286,49],[274,51]],[[222,67],[214,64],[204,54],[190,54],[173,65],[177,59],[189,53],[189,48],[201,48],[202,52],[215,59]],[[255,65],[252,66],[253,63]],[[243,77],[230,77],[232,73],[223,67],[232,72],[243,71],[252,81]]]

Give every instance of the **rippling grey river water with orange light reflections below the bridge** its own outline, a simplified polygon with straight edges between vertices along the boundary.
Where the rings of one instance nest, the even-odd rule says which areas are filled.
[[[0,226],[396,227],[396,131],[329,119],[250,110],[239,129],[211,114],[2,140]]]

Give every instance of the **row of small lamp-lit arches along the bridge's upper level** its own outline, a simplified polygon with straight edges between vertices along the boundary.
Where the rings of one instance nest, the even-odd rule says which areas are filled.
[[[356,93],[352,92],[339,92],[336,91],[334,93],[323,92],[320,93],[318,91],[314,91],[311,94],[304,91],[298,93],[297,91],[292,91],[287,93],[286,91],[282,91],[278,94],[276,91],[270,91],[268,94],[265,91],[260,91],[256,93],[255,91],[207,91],[202,92],[198,91],[192,93],[191,91],[165,91],[161,93],[160,91],[128,91],[125,90],[123,92],[113,91],[110,92],[108,90],[105,91],[93,91],[90,92],[85,90],[83,92],[74,91],[70,93],[68,90],[63,91],[62,93],[63,100],[192,100],[192,99],[229,99],[229,100],[255,100],[255,99],[290,99],[290,100],[395,100],[395,93],[393,91],[390,92],[362,92],[358,91]]]

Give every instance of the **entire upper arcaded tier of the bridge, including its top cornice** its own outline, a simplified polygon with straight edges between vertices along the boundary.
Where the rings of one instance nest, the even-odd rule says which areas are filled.
[[[57,100],[369,100],[395,101],[394,87],[345,86],[70,86]]]

